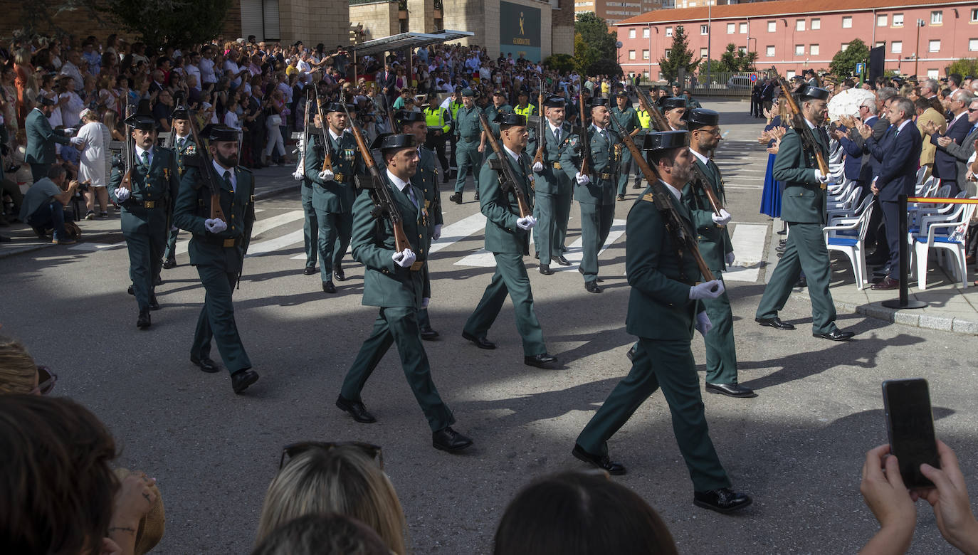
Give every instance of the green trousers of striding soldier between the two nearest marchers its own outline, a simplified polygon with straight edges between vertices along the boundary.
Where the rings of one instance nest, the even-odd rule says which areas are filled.
[[[544,330],[533,311],[533,291],[530,290],[530,277],[526,275],[523,256],[515,252],[497,252],[493,256],[496,257],[496,273],[463,330],[476,337],[484,337],[499,316],[509,294],[516,313],[516,330],[523,339],[523,355],[543,355],[547,352]]]

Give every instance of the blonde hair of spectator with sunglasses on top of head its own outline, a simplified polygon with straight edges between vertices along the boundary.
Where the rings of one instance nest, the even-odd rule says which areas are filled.
[[[310,448],[289,460],[265,493],[255,544],[290,520],[308,514],[353,517],[397,555],[406,553],[406,524],[394,486],[358,448]]]

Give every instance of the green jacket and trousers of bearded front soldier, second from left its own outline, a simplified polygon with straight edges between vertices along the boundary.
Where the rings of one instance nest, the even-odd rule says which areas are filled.
[[[241,166],[234,168],[237,188],[232,189],[231,182],[218,175],[209,160],[204,162],[200,156],[195,156],[185,163],[189,168],[180,180],[173,220],[178,228],[193,234],[188,250],[190,263],[197,267],[200,283],[206,291],[194,332],[191,358],[209,358],[213,338],[225,367],[234,374],[251,367],[238,333],[231,297],[241,278],[244,254],[254,226],[254,176]],[[201,167],[204,163],[208,166]],[[219,234],[208,232],[203,224],[210,218],[211,202],[210,188],[203,172],[209,173],[218,188],[221,211],[227,219],[228,228]]]

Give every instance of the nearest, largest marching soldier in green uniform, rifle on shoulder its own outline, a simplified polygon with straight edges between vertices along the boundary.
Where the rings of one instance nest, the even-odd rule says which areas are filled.
[[[666,189],[670,209],[678,212],[687,233],[694,235],[680,192],[691,174],[688,145],[685,131],[645,136],[649,165]],[[625,474],[625,467],[608,457],[607,440],[661,387],[672,413],[676,443],[689,469],[693,504],[729,513],[749,505],[751,498],[731,490],[730,478],[713,448],[689,346],[694,328],[705,333],[710,326],[699,301],[722,294],[723,282],[695,284],[699,269],[666,228],[656,206],[659,200],[651,191],[646,188],[628,214],[625,268],[632,292],[626,328],[639,336],[632,369],[581,431],[571,453],[609,474]]]

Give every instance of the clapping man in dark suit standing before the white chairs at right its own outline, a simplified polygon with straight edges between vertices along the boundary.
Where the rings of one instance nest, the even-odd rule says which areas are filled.
[[[866,139],[869,153],[880,162],[879,175],[873,180],[870,189],[879,197],[886,222],[886,242],[890,246],[890,272],[882,281],[872,286],[876,290],[896,289],[900,286],[900,218],[906,218],[907,212],[901,212],[897,200],[900,194],[913,194],[922,143],[920,132],[913,125],[916,109],[910,99],[893,99],[888,112],[890,130],[882,141],[873,139],[872,129],[866,125],[860,127],[860,135]]]

